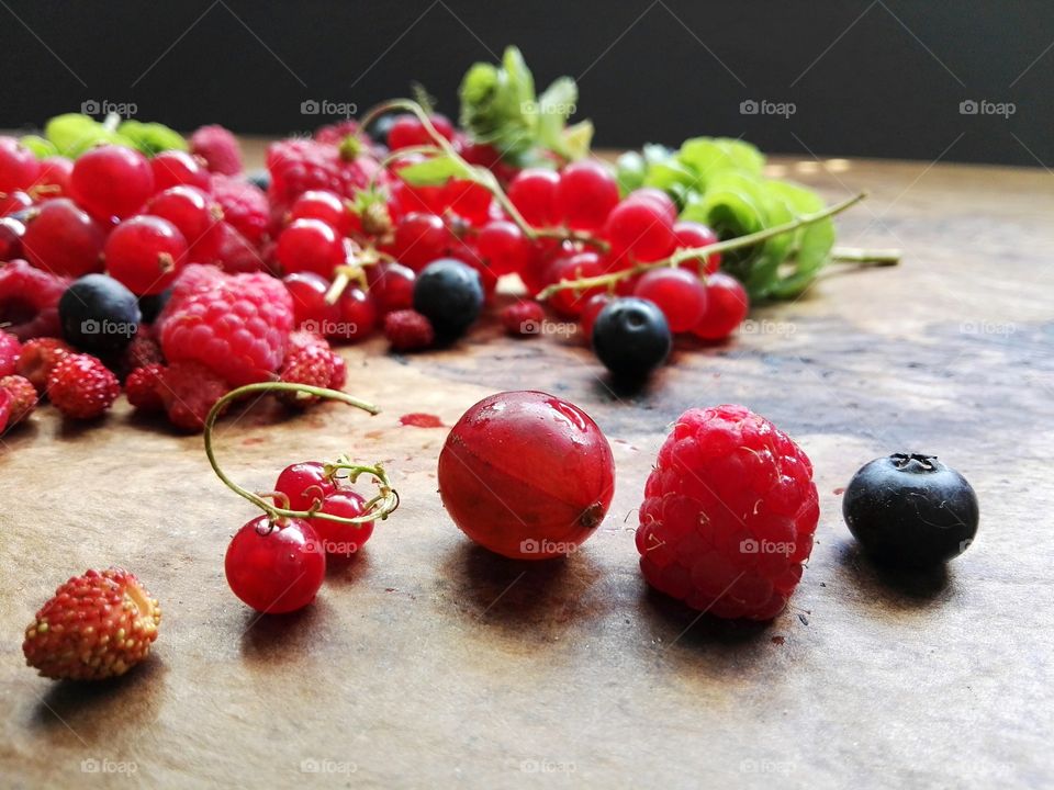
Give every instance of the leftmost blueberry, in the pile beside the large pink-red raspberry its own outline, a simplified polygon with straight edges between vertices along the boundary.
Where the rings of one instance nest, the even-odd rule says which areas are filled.
[[[123,351],[142,320],[135,294],[105,274],[88,274],[66,289],[58,317],[66,341],[97,356]]]

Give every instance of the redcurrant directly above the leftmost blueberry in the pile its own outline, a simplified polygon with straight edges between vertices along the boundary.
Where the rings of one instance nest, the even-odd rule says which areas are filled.
[[[102,271],[106,235],[67,198],[48,201],[25,225],[22,247],[37,269],[66,276]]]

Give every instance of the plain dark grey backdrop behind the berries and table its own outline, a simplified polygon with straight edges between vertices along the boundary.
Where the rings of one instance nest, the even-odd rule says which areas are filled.
[[[540,87],[578,78],[596,145],[743,135],[773,153],[1054,167],[1054,3],[27,2],[0,3],[0,127],[89,100],[180,129],[285,134],[421,80],[457,112],[466,68],[508,43]],[[789,119],[744,100],[793,102]],[[960,102],[1013,102],[963,115]]]

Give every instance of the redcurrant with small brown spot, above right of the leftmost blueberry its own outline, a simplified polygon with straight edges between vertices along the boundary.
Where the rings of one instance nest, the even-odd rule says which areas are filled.
[[[168,219],[135,216],[106,239],[106,272],[137,296],[158,294],[187,262],[187,239]]]

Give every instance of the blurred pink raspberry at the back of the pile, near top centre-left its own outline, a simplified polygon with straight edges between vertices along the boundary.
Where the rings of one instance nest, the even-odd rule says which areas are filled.
[[[268,146],[267,169],[271,173],[271,200],[291,205],[309,190],[354,198],[356,190],[369,184],[379,166],[371,155],[355,151],[354,146],[287,139]],[[384,179],[379,181],[383,183]]]

